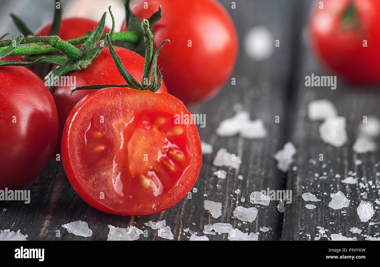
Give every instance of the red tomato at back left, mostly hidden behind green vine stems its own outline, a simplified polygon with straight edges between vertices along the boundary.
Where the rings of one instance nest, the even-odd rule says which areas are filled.
[[[52,22],[47,23],[37,30],[37,36],[46,36],[49,34]],[[63,18],[61,21],[61,27],[59,31],[59,37],[62,40],[70,40],[82,37],[87,32],[92,32],[93,29],[98,25],[98,21],[92,19],[86,19],[84,17],[67,17]],[[103,33],[109,32],[111,29],[104,27]]]

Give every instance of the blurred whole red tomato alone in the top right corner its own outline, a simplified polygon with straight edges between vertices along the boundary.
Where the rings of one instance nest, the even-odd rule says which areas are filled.
[[[312,49],[321,61],[352,83],[380,81],[380,1],[317,1],[309,18]],[[364,46],[367,41],[367,47]]]

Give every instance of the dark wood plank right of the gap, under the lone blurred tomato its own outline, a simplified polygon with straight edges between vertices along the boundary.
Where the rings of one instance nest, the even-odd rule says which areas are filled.
[[[302,10],[299,16],[299,23],[306,24],[307,14],[310,6],[302,2]],[[345,84],[342,79],[337,79],[337,89],[331,90],[329,87],[306,87],[305,76],[311,75],[331,75],[327,70],[320,67],[315,58],[310,54],[303,40],[300,42],[300,57],[295,70],[298,75],[295,77],[296,94],[288,104],[289,111],[292,111],[289,129],[289,139],[297,148],[294,165],[297,170],[288,173],[287,189],[293,190],[293,203],[285,206],[282,239],[283,240],[315,240],[318,237],[317,226],[324,227],[328,238],[331,234],[342,233],[347,237],[357,237],[364,240],[362,235],[375,236],[378,230],[379,210],[375,209],[375,215],[369,222],[361,222],[356,208],[363,196],[367,193],[367,201],[379,199],[379,178],[378,164],[380,153],[368,153],[358,155],[353,152],[352,145],[358,136],[358,125],[363,122],[363,116],[380,116],[378,110],[378,99],[380,91],[367,90],[364,88],[353,88]],[[334,103],[338,114],[347,118],[348,143],[342,148],[336,148],[324,143],[319,135],[318,128],[320,122],[311,122],[307,116],[307,104],[310,100],[328,99]],[[294,108],[293,108],[294,107]],[[323,161],[319,161],[320,154],[323,154]],[[356,165],[356,159],[363,161],[362,165]],[[310,162],[311,161],[311,162]],[[314,163],[314,162],[315,163]],[[355,174],[349,175],[352,171]],[[325,173],[326,172],[326,173]],[[336,178],[336,174],[340,178]],[[319,176],[327,176],[327,179],[320,179]],[[347,185],[341,180],[353,176],[359,178],[359,182],[366,184],[372,181],[376,188],[359,188],[358,184]],[[328,207],[331,201],[330,193],[342,191],[351,200],[348,208],[333,210]],[[320,202],[306,202],[301,198],[305,192],[316,194]],[[305,205],[313,204],[317,208],[309,210]],[[351,227],[358,227],[363,230],[361,234],[350,232]],[[307,235],[310,235],[307,236]],[[378,236],[378,234],[377,234]],[[318,238],[317,238],[318,239]],[[327,240],[327,238],[320,238]]]

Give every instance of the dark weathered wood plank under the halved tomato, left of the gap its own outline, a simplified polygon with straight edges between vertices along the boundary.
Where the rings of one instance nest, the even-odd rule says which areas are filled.
[[[197,193],[192,199],[184,198],[174,207],[150,216],[116,216],[103,213],[85,203],[71,188],[62,165],[54,159],[43,173],[25,189],[32,190],[30,204],[19,202],[1,203],[0,228],[21,229],[28,234],[28,240],[106,240],[107,225],[128,227],[130,225],[143,229],[144,222],[165,219],[174,234],[175,240],[187,240],[190,234],[184,235],[183,229],[203,235],[205,224],[228,222],[243,232],[258,232],[260,227],[271,227],[269,232],[260,232],[259,240],[278,240],[281,235],[282,214],[277,211],[277,201],[268,207],[258,207],[259,213],[252,224],[242,224],[231,218],[237,205],[253,207],[249,195],[262,189],[285,189],[285,175],[276,168],[273,154],[283,146],[287,99],[287,85],[290,73],[291,57],[291,15],[292,1],[260,0],[237,1],[236,10],[231,10],[231,1],[223,0],[239,34],[240,51],[233,77],[237,84],[227,84],[214,99],[201,105],[190,107],[191,113],[206,114],[206,127],[198,128],[201,140],[211,143],[214,152],[203,156],[203,167],[196,181]],[[253,62],[247,58],[243,49],[244,34],[255,25],[265,25],[273,33],[274,39],[280,40],[280,47],[275,49],[269,60]],[[196,85],[195,85],[196,86]],[[252,119],[261,118],[268,131],[262,140],[245,140],[240,137],[221,138],[215,135],[215,129],[222,119],[234,115],[233,105],[242,103],[250,111]],[[284,123],[276,124],[275,116],[280,116]],[[218,180],[213,173],[219,169],[212,161],[219,148],[227,148],[242,158],[239,171],[228,170],[225,180]],[[241,174],[244,180],[238,180]],[[217,186],[219,185],[219,186]],[[241,189],[236,195],[234,191]],[[207,194],[207,197],[204,196]],[[232,195],[232,196],[231,196]],[[244,203],[236,200],[244,196]],[[204,200],[221,202],[222,216],[214,219],[203,208]],[[240,202],[240,201],[239,201]],[[62,224],[82,220],[89,224],[92,237],[84,238],[65,232]],[[241,225],[239,225],[241,224]],[[147,237],[140,240],[161,240],[157,231],[149,227]],[[144,230],[143,229],[143,230]],[[248,229],[247,231],[245,229]],[[56,237],[55,230],[60,230]],[[209,235],[210,240],[227,240],[227,234]]]

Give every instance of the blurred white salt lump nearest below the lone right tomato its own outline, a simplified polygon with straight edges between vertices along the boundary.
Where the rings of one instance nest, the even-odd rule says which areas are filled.
[[[307,113],[311,121],[324,121],[338,114],[334,104],[326,99],[310,101],[307,105]]]

